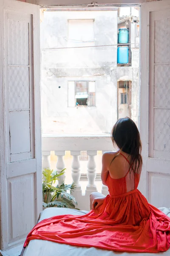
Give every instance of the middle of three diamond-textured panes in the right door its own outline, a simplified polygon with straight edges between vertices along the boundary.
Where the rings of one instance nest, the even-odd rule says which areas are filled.
[[[155,65],[154,107],[170,107],[170,65]]]

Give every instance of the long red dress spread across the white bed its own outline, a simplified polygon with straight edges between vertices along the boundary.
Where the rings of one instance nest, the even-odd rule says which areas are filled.
[[[137,189],[139,175],[129,171],[120,179],[108,175],[110,195],[101,207],[86,215],[60,215],[41,221],[28,234],[24,246],[32,239],[43,239],[122,252],[168,250],[170,218],[148,204]],[[131,182],[134,189],[127,192]]]

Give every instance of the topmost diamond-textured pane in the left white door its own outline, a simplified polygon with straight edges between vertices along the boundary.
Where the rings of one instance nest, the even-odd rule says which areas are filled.
[[[29,65],[29,23],[8,20],[8,64]]]

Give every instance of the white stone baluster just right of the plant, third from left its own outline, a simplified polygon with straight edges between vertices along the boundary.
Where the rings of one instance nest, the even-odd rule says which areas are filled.
[[[79,155],[80,151],[71,151],[71,155],[73,156],[73,161],[71,165],[71,176],[73,179],[74,184],[79,187],[80,183],[80,162],[79,162]]]

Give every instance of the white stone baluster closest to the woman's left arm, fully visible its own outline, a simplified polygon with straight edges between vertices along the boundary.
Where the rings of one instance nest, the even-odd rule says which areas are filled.
[[[89,196],[91,192],[97,191],[95,185],[95,178],[96,178],[96,163],[95,163],[95,156],[97,151],[87,151],[88,154],[88,185],[86,186],[85,195]]]

